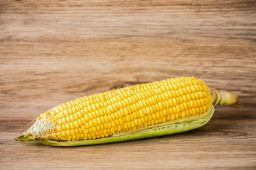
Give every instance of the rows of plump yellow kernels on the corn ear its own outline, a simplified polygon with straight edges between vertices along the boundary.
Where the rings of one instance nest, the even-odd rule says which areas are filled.
[[[194,77],[166,79],[78,98],[42,113],[36,120],[56,121],[49,135],[53,140],[107,137],[206,113],[212,99],[209,91]],[[47,132],[41,132],[42,137]]]

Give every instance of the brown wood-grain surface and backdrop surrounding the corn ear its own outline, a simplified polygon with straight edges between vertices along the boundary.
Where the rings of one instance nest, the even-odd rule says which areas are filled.
[[[0,169],[256,169],[255,1],[0,1]],[[240,96],[203,128],[90,147],[14,141],[80,96],[193,76]]]

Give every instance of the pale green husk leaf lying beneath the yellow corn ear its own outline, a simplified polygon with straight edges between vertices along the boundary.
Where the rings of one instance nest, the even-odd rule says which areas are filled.
[[[28,141],[41,142],[44,145],[51,145],[51,146],[71,147],[71,146],[81,146],[81,145],[100,145],[100,144],[123,142],[123,141],[129,141],[129,140],[139,140],[139,139],[144,139],[148,137],[159,137],[163,135],[171,135],[179,132],[186,132],[188,130],[200,128],[201,126],[206,125],[206,123],[208,123],[210,118],[213,116],[213,113],[214,113],[214,107],[211,106],[210,109],[203,115],[196,115],[188,118],[181,118],[179,120],[169,121],[167,123],[161,123],[158,125],[152,125],[146,128],[140,128],[139,130],[121,132],[117,135],[112,135],[111,137],[103,137],[95,140],[75,140],[75,141],[69,141],[69,142],[60,142],[60,141],[40,140],[40,139],[31,140],[31,137],[29,137]],[[23,135],[23,137],[24,136],[26,135]],[[21,139],[21,137],[18,137],[18,138]],[[24,139],[26,139],[26,137]]]

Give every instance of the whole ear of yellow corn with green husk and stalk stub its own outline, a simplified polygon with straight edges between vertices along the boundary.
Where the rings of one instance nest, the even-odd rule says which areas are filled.
[[[73,146],[169,135],[205,125],[215,104],[236,103],[237,96],[210,91],[203,80],[166,79],[60,104],[16,140]]]

